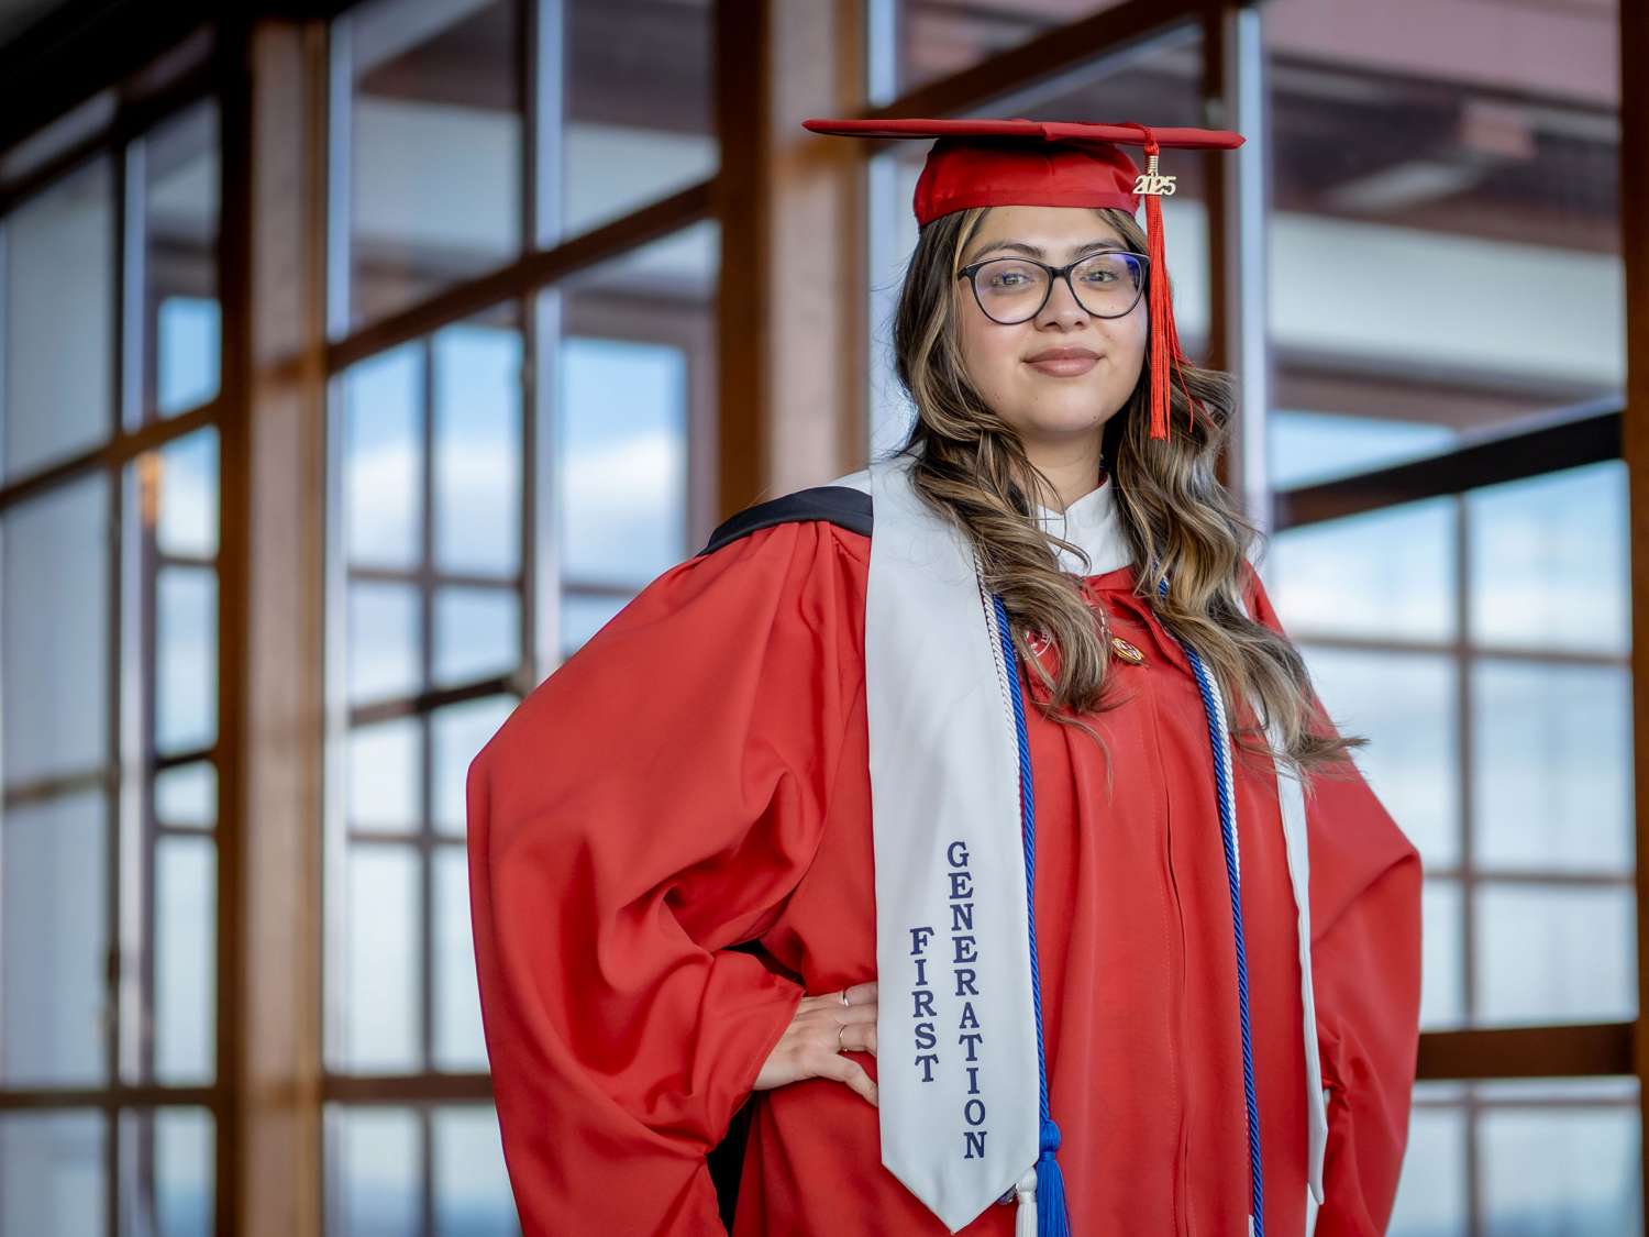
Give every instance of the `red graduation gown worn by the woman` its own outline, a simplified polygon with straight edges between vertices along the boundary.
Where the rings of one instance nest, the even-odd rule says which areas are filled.
[[[947,1232],[882,1168],[877,1112],[846,1085],[750,1090],[803,993],[874,978],[869,546],[785,523],[671,567],[470,767],[482,1011],[528,1234],[722,1232],[704,1155],[747,1102],[737,1237]],[[1027,709],[1059,1161],[1077,1237],[1237,1237],[1247,1128],[1212,754],[1189,665],[1131,582],[1083,582],[1144,653],[1113,663],[1128,703],[1087,719],[1110,790],[1092,739]],[[1238,755],[1235,780],[1280,1237],[1303,1232],[1306,1202],[1294,905],[1275,774]],[[1407,1141],[1420,863],[1357,775],[1319,778],[1308,818],[1329,1089],[1316,1232],[1364,1237],[1385,1230]],[[763,953],[727,948],[749,940]],[[1008,1237],[1014,1211],[963,1232]]]

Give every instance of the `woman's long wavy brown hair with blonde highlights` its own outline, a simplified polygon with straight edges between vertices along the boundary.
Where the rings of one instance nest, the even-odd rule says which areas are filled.
[[[1044,717],[1105,741],[1080,714],[1103,713],[1123,701],[1108,689],[1108,618],[1090,607],[1077,579],[1064,572],[1055,546],[1080,546],[1034,518],[1032,503],[1059,508],[1057,490],[1031,463],[1014,427],[968,379],[961,355],[960,308],[966,294],[958,277],[961,256],[989,211],[953,211],[927,223],[905,272],[894,320],[899,381],[917,417],[892,457],[910,454],[910,478],[922,500],[960,526],[980,556],[983,582],[999,594],[1012,628],[1019,663],[1037,676],[1032,693]],[[1135,252],[1146,236],[1131,214],[1095,208]],[[1149,279],[1163,275],[1151,270]],[[1225,691],[1233,749],[1285,762],[1306,788],[1313,774],[1332,775],[1349,749],[1367,742],[1339,736],[1314,701],[1309,675],[1294,647],[1243,614],[1240,587],[1248,548],[1261,538],[1232,501],[1214,463],[1233,412],[1233,384],[1219,369],[1186,365],[1184,386],[1200,404],[1186,430],[1187,397],[1171,384],[1167,440],[1149,437],[1151,353],[1128,402],[1106,422],[1102,452],[1116,487],[1116,510],[1133,548],[1135,592],[1164,627],[1187,640]],[[1087,557],[1083,556],[1083,561]],[[1167,595],[1158,586],[1167,579]],[[1057,675],[1034,656],[1036,633],[1057,650]],[[1238,726],[1235,703],[1258,704],[1258,726]],[[1281,749],[1266,741],[1268,719],[1278,722]],[[1106,759],[1106,770],[1110,760]]]

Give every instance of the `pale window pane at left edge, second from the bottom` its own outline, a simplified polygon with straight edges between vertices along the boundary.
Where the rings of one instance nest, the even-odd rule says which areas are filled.
[[[0,1080],[101,1084],[109,950],[99,793],[0,815]]]

